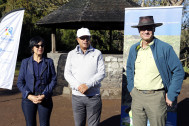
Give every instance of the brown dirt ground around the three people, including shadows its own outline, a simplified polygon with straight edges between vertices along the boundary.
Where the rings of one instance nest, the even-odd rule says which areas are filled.
[[[51,126],[74,126],[70,96],[53,96],[54,107]],[[120,126],[121,99],[102,100],[101,126]],[[178,97],[178,126],[188,126],[189,79],[185,80]],[[0,89],[0,126],[25,126],[21,109],[21,93],[16,85],[13,90]]]

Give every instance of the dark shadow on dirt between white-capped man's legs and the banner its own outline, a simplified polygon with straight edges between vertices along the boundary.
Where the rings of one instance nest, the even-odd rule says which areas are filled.
[[[120,126],[121,115],[112,116],[100,123],[100,126]]]

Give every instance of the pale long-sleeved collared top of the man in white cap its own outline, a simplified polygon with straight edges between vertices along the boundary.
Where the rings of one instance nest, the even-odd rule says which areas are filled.
[[[105,77],[105,65],[102,53],[92,46],[85,54],[77,45],[68,53],[64,77],[72,88],[72,94],[78,96],[94,96],[100,94],[101,81]],[[86,84],[88,91],[82,94],[78,91],[80,84]]]

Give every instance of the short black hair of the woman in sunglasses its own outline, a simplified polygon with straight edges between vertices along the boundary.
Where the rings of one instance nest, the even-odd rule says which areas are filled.
[[[35,36],[35,37],[30,39],[29,48],[30,48],[32,54],[33,54],[32,49],[33,49],[34,45],[37,45],[39,42],[42,42],[42,44],[45,46],[45,40],[40,36]]]

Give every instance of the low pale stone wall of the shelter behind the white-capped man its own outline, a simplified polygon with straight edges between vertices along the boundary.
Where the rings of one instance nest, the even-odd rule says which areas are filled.
[[[47,56],[54,60],[57,72],[57,86],[55,95],[71,95],[69,84],[64,79],[64,66],[67,53],[48,53]],[[121,99],[122,95],[122,75],[123,75],[123,55],[104,54],[106,77],[101,82],[101,95],[104,99]]]

